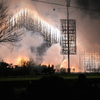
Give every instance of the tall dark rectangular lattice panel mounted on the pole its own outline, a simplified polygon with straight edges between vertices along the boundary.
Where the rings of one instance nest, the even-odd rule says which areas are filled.
[[[69,32],[68,32],[68,22],[69,21]],[[69,54],[76,54],[76,20],[74,19],[61,19],[61,33],[62,33],[62,54],[68,54],[68,34],[69,34]]]

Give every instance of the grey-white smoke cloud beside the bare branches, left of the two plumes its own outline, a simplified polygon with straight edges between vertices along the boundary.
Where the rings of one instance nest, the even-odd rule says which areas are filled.
[[[6,46],[1,46],[0,57],[8,63],[16,64],[18,57],[32,58],[36,61],[37,47],[44,42],[43,37],[39,32],[33,33],[32,31],[24,31],[24,37],[16,44],[13,50]],[[34,52],[31,51],[34,48]]]

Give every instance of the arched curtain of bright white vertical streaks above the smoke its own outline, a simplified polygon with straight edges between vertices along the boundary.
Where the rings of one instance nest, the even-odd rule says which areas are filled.
[[[13,27],[25,27],[29,31],[39,32],[44,37],[46,46],[60,42],[60,31],[43,21],[38,15],[29,9],[22,9],[12,18],[9,18],[9,31]]]

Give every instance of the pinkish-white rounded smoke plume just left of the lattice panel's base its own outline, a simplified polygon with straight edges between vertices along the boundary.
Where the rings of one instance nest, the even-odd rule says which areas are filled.
[[[53,44],[43,56],[44,64],[53,64],[57,66],[60,65],[62,61],[63,61],[63,56],[61,55],[61,47],[59,43]]]

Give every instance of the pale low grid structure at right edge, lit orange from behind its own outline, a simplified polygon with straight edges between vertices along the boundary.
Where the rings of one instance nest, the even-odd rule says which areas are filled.
[[[84,72],[100,72],[100,53],[81,54],[80,67]]]

